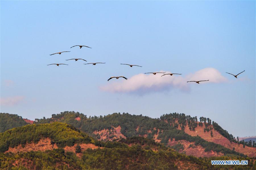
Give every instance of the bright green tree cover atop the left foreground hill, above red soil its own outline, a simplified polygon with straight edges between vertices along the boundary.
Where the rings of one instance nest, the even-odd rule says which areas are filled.
[[[58,147],[73,146],[75,143],[92,143],[93,139],[86,133],[68,124],[54,122],[51,124],[33,124],[13,128],[0,133],[0,152],[5,152],[26,143],[37,143],[42,138],[49,137],[51,143]]]

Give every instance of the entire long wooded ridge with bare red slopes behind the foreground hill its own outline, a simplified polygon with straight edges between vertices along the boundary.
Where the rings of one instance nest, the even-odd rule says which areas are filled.
[[[66,111],[53,114],[51,118],[36,119],[34,123],[56,121],[67,123],[90,134],[95,139],[104,141],[143,136],[174,148],[180,146],[179,152],[198,157],[240,155],[240,153],[255,157],[255,148],[247,146],[243,148],[243,145],[236,144],[234,137],[215,122],[211,123],[210,119],[203,117],[200,118],[201,122],[196,120],[196,117],[177,113],[165,114],[158,119],[128,113],[87,118],[79,112]],[[195,133],[198,130],[200,133]],[[199,150],[201,151],[198,152]]]

